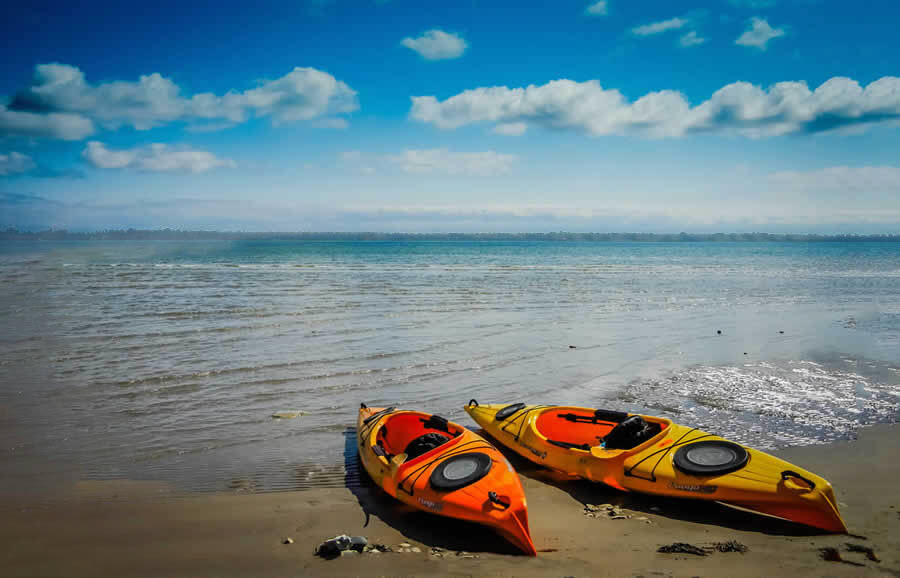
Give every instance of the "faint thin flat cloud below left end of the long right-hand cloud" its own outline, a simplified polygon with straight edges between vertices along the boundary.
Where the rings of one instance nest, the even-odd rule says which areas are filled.
[[[508,173],[516,157],[494,151],[458,153],[447,149],[407,149],[387,160],[407,173],[491,176]]]

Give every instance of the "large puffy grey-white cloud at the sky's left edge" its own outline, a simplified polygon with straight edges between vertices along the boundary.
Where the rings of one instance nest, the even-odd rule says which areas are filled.
[[[93,132],[92,120],[108,129],[130,125],[138,130],[176,121],[211,130],[249,116],[269,117],[278,125],[329,119],[358,108],[353,89],[315,68],[295,68],[244,92],[186,97],[158,73],[137,82],[93,85],[78,68],[53,63],[38,65],[32,84],[16,95],[10,110],[0,109],[0,135],[78,140]]]

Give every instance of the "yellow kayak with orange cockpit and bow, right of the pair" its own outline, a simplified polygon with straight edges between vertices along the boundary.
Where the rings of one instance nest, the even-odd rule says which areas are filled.
[[[479,405],[474,399],[465,410],[517,454],[571,476],[847,532],[824,478],[668,419],[583,407]]]

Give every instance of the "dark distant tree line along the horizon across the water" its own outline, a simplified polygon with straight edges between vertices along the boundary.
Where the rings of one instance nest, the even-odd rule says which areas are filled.
[[[834,241],[900,242],[897,235],[798,235],[778,233],[252,233],[242,231],[184,231],[179,229],[121,229],[94,232],[67,230],[0,231],[0,240],[31,241],[574,241],[574,242],[785,242]]]

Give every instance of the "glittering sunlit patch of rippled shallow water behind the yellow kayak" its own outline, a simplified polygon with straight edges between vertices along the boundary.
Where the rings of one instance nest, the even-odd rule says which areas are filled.
[[[813,361],[693,367],[632,383],[617,401],[761,449],[851,439],[900,417],[895,385]]]

